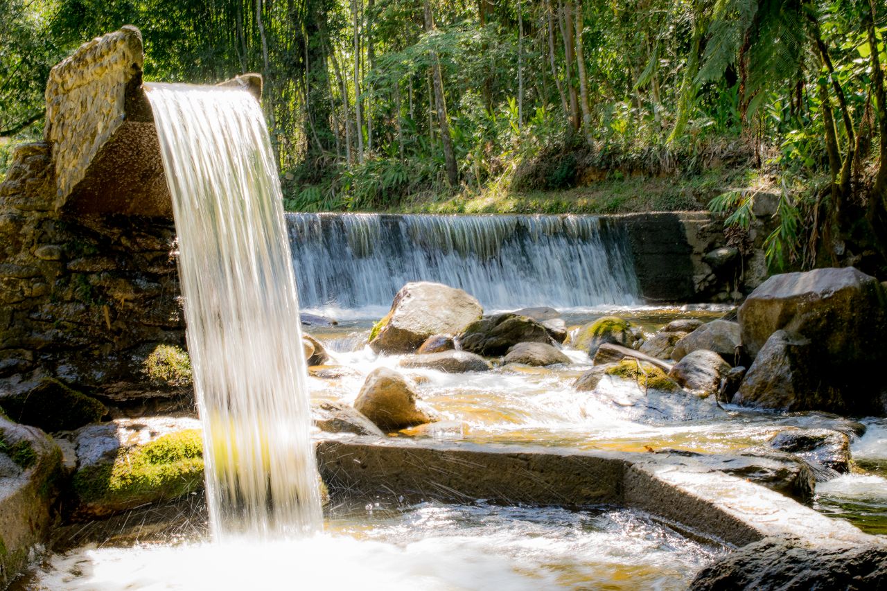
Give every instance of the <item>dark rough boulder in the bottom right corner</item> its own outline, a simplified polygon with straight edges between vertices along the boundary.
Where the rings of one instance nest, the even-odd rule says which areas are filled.
[[[695,591],[863,591],[883,589],[887,546],[799,546],[765,538],[731,552],[696,574]]]

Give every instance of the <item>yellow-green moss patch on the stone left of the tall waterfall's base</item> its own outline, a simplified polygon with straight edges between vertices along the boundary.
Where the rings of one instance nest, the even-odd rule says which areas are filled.
[[[174,499],[203,484],[203,445],[199,429],[157,438],[123,450],[114,462],[80,469],[73,485],[85,503],[116,510],[142,502]]]

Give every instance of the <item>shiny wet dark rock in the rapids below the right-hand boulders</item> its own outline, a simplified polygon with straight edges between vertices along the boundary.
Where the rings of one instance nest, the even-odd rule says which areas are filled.
[[[831,429],[787,429],[768,442],[773,449],[794,453],[812,466],[817,480],[850,471],[850,437]]]

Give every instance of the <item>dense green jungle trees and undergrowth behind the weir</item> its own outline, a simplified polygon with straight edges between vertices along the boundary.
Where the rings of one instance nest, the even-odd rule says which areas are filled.
[[[0,7],[7,145],[40,135],[54,63],[131,23],[147,80],[264,76],[287,209],[709,204],[741,240],[766,190],[773,264],[887,260],[883,0]]]

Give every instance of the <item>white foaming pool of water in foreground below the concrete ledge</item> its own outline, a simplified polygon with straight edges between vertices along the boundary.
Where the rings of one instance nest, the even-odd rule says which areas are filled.
[[[624,509],[374,508],[306,540],[80,548],[27,588],[681,589],[718,550]]]

